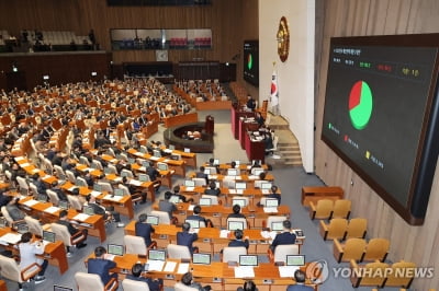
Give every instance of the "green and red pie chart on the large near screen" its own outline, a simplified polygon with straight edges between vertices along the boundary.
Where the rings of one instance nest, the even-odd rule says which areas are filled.
[[[372,116],[373,97],[369,84],[358,81],[353,84],[349,94],[349,116],[353,128],[364,129]]]

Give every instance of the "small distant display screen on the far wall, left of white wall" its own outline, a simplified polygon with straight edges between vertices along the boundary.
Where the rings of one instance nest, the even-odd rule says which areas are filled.
[[[244,40],[244,80],[259,85],[259,42]]]

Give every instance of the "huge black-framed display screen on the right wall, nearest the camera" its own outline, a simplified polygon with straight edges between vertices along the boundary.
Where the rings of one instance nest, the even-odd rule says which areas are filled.
[[[438,154],[438,46],[419,39],[333,38],[322,126],[322,139],[412,224],[423,222]]]

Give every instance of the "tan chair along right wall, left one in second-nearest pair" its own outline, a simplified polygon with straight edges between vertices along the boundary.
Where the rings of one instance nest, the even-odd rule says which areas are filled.
[[[351,259],[360,261],[365,251],[365,241],[363,238],[349,238],[341,244],[334,238],[333,253],[338,263],[350,261]]]

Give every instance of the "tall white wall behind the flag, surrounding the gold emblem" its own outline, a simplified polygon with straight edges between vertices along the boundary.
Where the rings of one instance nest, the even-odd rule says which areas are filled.
[[[290,27],[290,56],[285,62],[279,59],[275,36],[282,16]],[[270,95],[275,70],[280,114],[299,140],[308,173],[314,172],[314,0],[259,0],[259,101]]]

